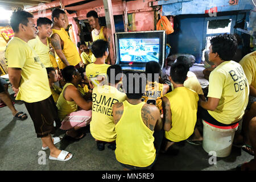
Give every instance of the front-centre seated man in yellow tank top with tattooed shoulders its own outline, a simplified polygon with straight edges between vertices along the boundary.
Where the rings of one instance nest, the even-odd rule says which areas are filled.
[[[127,100],[113,105],[115,158],[125,170],[150,169],[156,161],[154,130],[161,130],[162,119],[158,107],[142,102],[146,78],[124,77],[123,88]]]

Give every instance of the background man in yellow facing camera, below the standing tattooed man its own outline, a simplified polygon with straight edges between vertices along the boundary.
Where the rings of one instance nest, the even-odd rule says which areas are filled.
[[[80,54],[82,63],[87,65],[95,61],[95,57],[93,56],[92,51],[86,46],[84,42],[77,43],[77,47],[82,51]]]

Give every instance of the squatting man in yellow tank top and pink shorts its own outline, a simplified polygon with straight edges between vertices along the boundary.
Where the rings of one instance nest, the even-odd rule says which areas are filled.
[[[69,65],[63,69],[63,77],[67,84],[57,100],[58,115],[61,119],[62,130],[68,130],[69,137],[80,139],[84,134],[79,134],[79,129],[89,124],[92,116],[92,102],[86,101],[77,89],[82,80],[77,69]],[[79,110],[81,107],[81,110]]]

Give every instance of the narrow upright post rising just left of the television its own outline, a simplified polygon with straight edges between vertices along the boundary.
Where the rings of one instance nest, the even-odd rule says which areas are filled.
[[[111,60],[111,64],[115,64],[115,46],[114,46],[114,34],[115,34],[115,24],[114,24],[114,16],[112,10],[112,1],[111,0],[103,0],[104,9],[105,9],[105,19],[106,26],[108,30],[108,42],[110,46],[109,56]]]

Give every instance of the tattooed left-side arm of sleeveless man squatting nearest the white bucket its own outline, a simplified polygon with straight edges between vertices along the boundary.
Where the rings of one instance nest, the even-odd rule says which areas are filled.
[[[172,113],[170,101],[167,97],[163,97],[163,121],[164,131],[170,131],[172,128]]]

